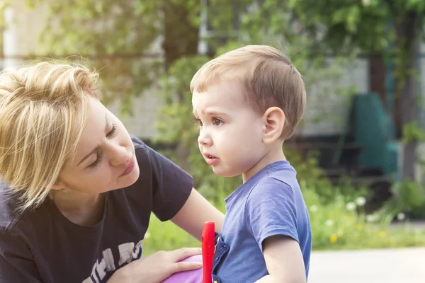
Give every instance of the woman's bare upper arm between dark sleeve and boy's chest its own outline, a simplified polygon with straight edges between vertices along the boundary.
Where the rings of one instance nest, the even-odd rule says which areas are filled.
[[[200,241],[203,224],[206,221],[215,222],[215,231],[220,232],[224,219],[225,215],[222,212],[213,207],[199,192],[192,189],[188,200],[171,221]]]

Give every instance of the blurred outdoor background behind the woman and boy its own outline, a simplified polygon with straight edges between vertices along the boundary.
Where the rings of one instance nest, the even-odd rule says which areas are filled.
[[[189,83],[235,47],[278,47],[307,86],[284,147],[312,221],[310,282],[424,282],[424,19],[420,0],[1,0],[0,67],[97,69],[128,131],[225,212],[242,179],[198,153]],[[152,216],[145,254],[181,246],[199,243]]]

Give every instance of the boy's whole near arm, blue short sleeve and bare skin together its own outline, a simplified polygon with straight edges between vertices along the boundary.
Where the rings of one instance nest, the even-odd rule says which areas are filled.
[[[305,283],[292,187],[273,177],[259,182],[246,202],[246,223],[251,224],[268,271],[258,283]]]

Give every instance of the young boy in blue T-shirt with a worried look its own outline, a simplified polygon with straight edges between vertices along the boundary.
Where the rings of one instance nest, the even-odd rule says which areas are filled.
[[[273,47],[250,45],[206,63],[191,81],[198,144],[220,176],[242,174],[226,198],[215,282],[306,282],[310,219],[283,154],[305,111],[305,86]]]

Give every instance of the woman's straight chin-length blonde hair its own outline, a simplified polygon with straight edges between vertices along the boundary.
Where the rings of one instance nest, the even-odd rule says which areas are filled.
[[[98,74],[42,62],[0,74],[0,176],[20,192],[21,209],[37,207],[73,158],[88,100],[100,98]]]

